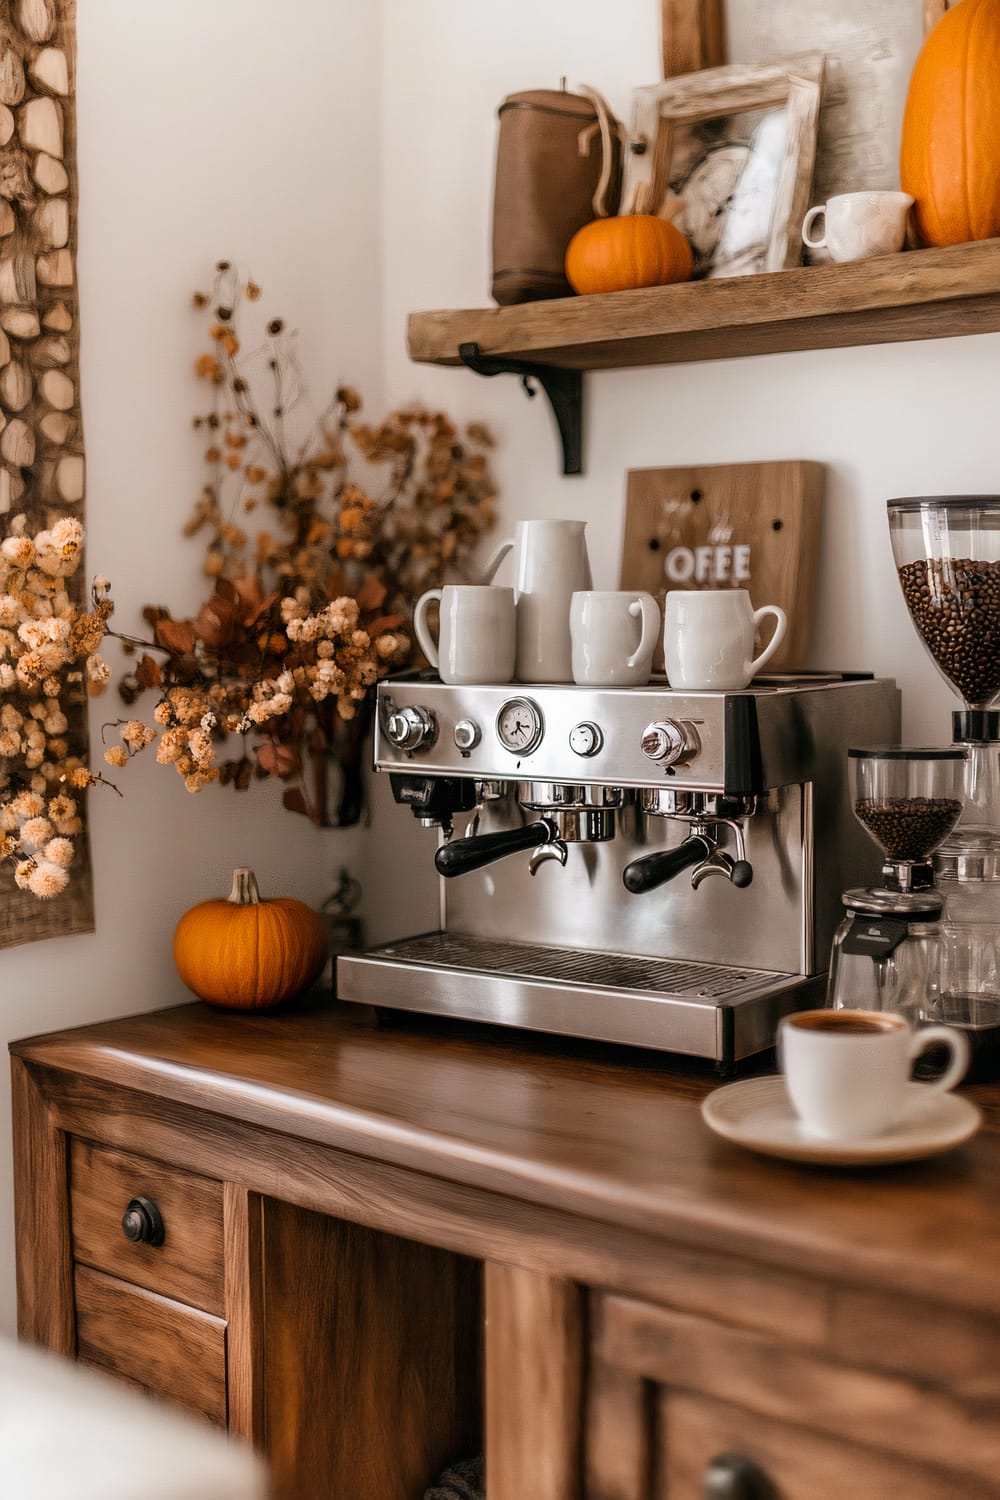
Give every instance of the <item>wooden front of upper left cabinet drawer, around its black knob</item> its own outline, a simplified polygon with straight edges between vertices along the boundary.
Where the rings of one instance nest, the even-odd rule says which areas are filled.
[[[121,1215],[136,1197],[159,1209],[162,1245],[126,1239]],[[73,1140],[70,1204],[73,1260],[204,1312],[223,1312],[220,1182]]]

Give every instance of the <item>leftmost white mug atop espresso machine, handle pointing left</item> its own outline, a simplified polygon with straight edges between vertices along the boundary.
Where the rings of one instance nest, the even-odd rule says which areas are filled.
[[[441,606],[439,640],[427,626],[433,600]],[[514,590],[492,584],[429,588],[414,609],[414,634],[442,682],[510,682],[517,651]]]

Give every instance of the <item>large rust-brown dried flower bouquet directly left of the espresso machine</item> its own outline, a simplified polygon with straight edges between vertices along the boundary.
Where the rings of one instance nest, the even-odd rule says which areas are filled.
[[[484,428],[460,435],[418,406],[367,424],[345,386],[294,450],[288,418],[303,382],[283,320],[270,318],[262,344],[243,352],[243,304],[259,296],[229,261],[217,264],[211,294],[195,294],[208,318],[195,369],[211,399],[193,418],[207,477],[184,534],[205,540],[213,592],[193,620],[147,606],[151,639],[121,638],[142,654],[118,690],[129,705],[156,690],[157,729],[127,720],[105,759],[124,764],[159,735],[157,760],[190,790],[276,776],[289,783],[286,807],[345,824],[360,816],[370,688],[411,662],[417,597],[469,576],[471,552],[493,525],[492,444]],[[241,736],[235,754],[231,735]],[[333,813],[331,764],[343,776]]]

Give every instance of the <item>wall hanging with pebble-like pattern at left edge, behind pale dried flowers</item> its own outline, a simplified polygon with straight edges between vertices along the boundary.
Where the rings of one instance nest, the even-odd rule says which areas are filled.
[[[82,520],[76,300],[75,0],[0,0],[0,537]],[[72,580],[85,588],[85,568]],[[87,756],[82,684],[61,698]],[[82,794],[76,794],[82,807]],[[39,900],[0,873],[0,946],[93,930],[85,832],[64,892]]]

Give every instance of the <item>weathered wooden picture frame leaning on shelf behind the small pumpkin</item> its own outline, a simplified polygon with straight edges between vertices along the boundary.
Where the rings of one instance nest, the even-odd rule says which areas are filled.
[[[711,68],[636,90],[625,210],[672,219],[696,276],[799,264],[823,63]]]

